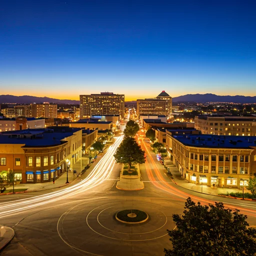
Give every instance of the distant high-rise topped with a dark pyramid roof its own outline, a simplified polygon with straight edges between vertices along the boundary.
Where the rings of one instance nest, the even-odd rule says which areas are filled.
[[[164,90],[155,98],[137,99],[137,115],[171,114],[172,98]]]

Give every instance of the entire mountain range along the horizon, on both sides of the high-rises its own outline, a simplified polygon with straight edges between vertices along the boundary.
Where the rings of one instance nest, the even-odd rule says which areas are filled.
[[[62,103],[62,104],[79,104],[79,100],[72,99],[57,99],[50,97],[36,97],[36,96],[14,96],[14,95],[0,95],[0,103]],[[129,101],[132,102],[132,101]],[[135,103],[136,101],[134,101]],[[216,95],[212,93],[206,94],[186,94],[178,97],[173,97],[172,102],[233,102],[233,103],[256,103],[256,96],[242,96],[242,95]]]

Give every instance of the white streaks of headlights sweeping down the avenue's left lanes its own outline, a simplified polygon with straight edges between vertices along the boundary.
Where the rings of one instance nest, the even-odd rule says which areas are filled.
[[[77,195],[80,192],[91,189],[108,179],[115,164],[113,154],[121,143],[122,138],[123,136],[116,138],[114,143],[108,147],[107,152],[98,161],[90,174],[79,183],[59,191],[50,192],[43,195],[19,199],[14,202],[2,202],[0,203],[0,218],[16,214],[23,210],[31,209],[36,206]]]

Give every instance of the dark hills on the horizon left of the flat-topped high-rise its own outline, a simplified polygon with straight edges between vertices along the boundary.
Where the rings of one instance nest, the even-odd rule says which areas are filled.
[[[0,103],[21,103],[21,104],[30,104],[30,103],[62,103],[62,104],[79,104],[79,100],[72,99],[57,99],[49,97],[35,97],[35,96],[13,96],[13,95],[0,95]]]

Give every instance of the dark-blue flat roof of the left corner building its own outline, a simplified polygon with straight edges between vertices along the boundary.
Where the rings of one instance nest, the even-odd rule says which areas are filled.
[[[0,144],[24,144],[23,147],[46,147],[65,143],[64,138],[80,128],[52,126],[44,129],[25,129],[0,132]]]

